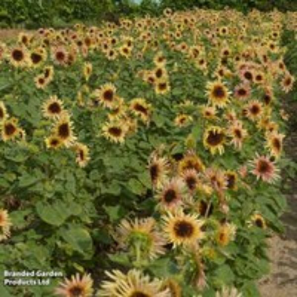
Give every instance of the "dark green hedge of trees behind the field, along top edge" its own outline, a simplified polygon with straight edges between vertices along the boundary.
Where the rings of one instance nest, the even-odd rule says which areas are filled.
[[[296,11],[297,3],[291,0],[1,0],[0,27],[61,28],[77,21],[118,22],[123,16],[158,16],[165,7],[173,10],[229,7],[247,13],[251,9]]]

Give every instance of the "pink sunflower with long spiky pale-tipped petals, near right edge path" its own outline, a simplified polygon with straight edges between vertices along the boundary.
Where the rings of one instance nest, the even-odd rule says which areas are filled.
[[[275,163],[267,156],[256,155],[256,158],[249,161],[252,166],[251,173],[257,177],[257,180],[261,179],[267,183],[273,183],[279,179],[279,169],[276,168]]]

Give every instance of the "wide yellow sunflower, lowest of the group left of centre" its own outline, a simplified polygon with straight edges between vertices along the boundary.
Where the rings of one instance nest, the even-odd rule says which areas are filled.
[[[123,121],[106,122],[102,127],[102,135],[115,143],[123,143],[128,132],[127,125]]]

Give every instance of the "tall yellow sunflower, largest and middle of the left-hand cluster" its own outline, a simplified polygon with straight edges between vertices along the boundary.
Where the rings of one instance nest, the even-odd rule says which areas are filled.
[[[54,123],[53,135],[57,136],[67,148],[71,147],[76,141],[72,130],[72,122],[67,112],[63,112]]]

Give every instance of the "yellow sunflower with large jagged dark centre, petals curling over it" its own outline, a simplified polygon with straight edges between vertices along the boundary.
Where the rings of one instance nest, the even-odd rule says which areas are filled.
[[[210,150],[211,154],[215,154],[217,151],[219,154],[224,152],[224,143],[226,142],[225,130],[218,126],[208,127],[203,135],[204,148]]]

